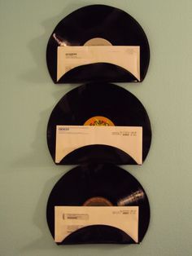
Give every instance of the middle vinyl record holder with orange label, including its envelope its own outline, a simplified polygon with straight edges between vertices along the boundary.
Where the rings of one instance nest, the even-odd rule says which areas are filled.
[[[60,134],[58,126],[61,126],[61,129],[59,127]],[[81,126],[78,127],[81,130],[75,130],[72,133],[70,129],[75,129],[76,126]],[[88,143],[84,144],[88,138],[86,131],[90,130],[90,126],[92,128],[93,126],[105,126],[102,132],[105,131],[106,136],[103,135],[102,140],[95,142],[94,134],[94,137],[89,137]],[[130,127],[133,130],[132,133],[127,130],[129,128],[124,127]],[[137,131],[137,136],[131,136],[135,135],[134,132],[139,128],[142,130],[140,140],[139,131]],[[111,140],[107,140],[109,135],[107,131],[111,132],[111,137],[109,137]],[[77,143],[74,138],[82,140],[83,143],[81,147],[70,151],[72,143]],[[62,144],[61,151],[69,148],[68,154],[60,157],[59,161],[55,161],[59,165],[84,164],[88,161],[117,165],[142,164],[142,162],[138,163],[132,154],[129,154],[129,150],[126,150],[126,147],[131,146],[129,139],[135,138],[140,143],[142,161],[145,161],[151,146],[151,123],[146,109],[128,90],[108,83],[89,83],[70,90],[56,104],[47,125],[47,144],[53,160],[57,159],[57,146],[60,147]],[[113,140],[114,143],[112,143]],[[116,143],[119,140],[121,144]],[[136,144],[133,144],[131,149],[135,149],[137,154]]]

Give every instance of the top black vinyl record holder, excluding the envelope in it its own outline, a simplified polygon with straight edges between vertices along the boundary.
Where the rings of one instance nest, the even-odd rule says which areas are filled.
[[[140,46],[140,80],[118,65],[95,63],[72,68],[58,81],[58,46],[85,46],[94,38],[102,38],[111,46]],[[149,61],[149,43],[141,25],[125,11],[106,5],[82,7],[67,15],[55,27],[46,49],[47,67],[55,83],[142,82]]]

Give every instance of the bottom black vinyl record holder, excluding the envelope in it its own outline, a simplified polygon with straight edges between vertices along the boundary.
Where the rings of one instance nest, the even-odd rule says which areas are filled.
[[[150,205],[142,185],[129,172],[113,165],[77,166],[55,184],[47,202],[46,217],[55,237],[55,206],[138,206],[138,242],[150,222]],[[133,243],[129,236],[109,226],[83,227],[62,244]]]

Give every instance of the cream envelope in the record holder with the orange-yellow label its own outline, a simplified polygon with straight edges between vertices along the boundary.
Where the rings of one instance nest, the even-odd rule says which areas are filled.
[[[55,163],[94,144],[119,148],[142,165],[142,126],[56,126]]]

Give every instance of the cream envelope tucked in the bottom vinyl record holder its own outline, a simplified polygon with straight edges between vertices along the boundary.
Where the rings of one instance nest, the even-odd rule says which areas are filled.
[[[55,242],[81,227],[108,225],[138,242],[138,206],[55,206]]]

